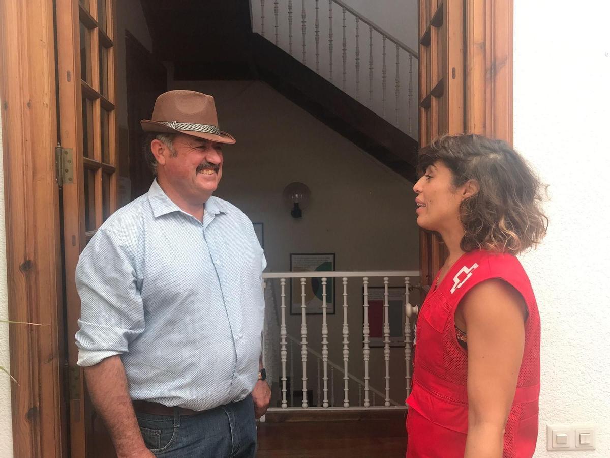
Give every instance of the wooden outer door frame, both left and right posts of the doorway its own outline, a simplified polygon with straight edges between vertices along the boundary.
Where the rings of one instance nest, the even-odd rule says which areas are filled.
[[[467,131],[512,143],[512,0],[465,0]],[[0,2],[13,454],[67,456],[53,2]],[[476,89],[476,90],[475,90]]]

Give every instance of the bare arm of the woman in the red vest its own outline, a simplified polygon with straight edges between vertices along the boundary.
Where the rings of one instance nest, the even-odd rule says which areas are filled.
[[[526,307],[508,283],[475,286],[459,305],[468,337],[465,458],[501,458],[525,344]]]

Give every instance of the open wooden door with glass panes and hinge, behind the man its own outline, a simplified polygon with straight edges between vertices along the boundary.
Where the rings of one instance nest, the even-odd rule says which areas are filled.
[[[113,456],[101,419],[91,409],[74,334],[81,316],[74,271],[95,231],[117,208],[117,109],[113,0],[57,0],[57,74],[62,154],[73,177],[62,183],[66,359],[73,457]]]

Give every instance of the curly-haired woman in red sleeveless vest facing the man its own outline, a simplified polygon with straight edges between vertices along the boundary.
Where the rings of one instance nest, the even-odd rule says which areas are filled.
[[[540,316],[515,255],[548,220],[508,144],[445,136],[419,154],[417,224],[449,256],[417,321],[407,457],[524,458],[536,448]]]

